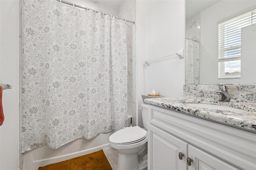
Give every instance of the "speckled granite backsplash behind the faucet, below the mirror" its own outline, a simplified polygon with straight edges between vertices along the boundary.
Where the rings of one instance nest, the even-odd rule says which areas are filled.
[[[227,85],[232,99],[240,102],[256,102],[256,85]],[[218,100],[217,85],[184,85],[184,96],[206,97]]]

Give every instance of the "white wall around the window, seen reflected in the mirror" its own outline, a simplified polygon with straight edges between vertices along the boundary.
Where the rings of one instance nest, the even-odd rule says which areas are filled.
[[[222,0],[201,12],[200,84],[240,83],[240,79],[218,79],[218,24],[255,8],[254,0]]]

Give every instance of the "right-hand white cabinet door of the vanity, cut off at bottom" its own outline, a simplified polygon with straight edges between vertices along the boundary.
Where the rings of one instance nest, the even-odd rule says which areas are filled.
[[[238,170],[238,168],[212,156],[211,154],[200,150],[188,144],[188,158],[191,159],[191,165],[188,164],[188,170]]]

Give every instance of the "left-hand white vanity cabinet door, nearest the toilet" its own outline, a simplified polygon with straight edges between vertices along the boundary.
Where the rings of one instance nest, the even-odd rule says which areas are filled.
[[[148,125],[148,139],[149,170],[187,169],[188,143],[150,124]]]

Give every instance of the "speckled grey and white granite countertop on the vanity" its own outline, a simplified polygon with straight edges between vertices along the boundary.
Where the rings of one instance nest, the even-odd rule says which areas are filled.
[[[196,116],[209,121],[230,125],[243,130],[256,133],[256,104],[246,102],[222,102],[203,97],[160,97],[145,99],[144,103],[179,111],[188,115]],[[204,107],[190,106],[186,103],[205,103],[222,105],[242,109],[244,111],[224,111],[218,109],[207,109]]]

